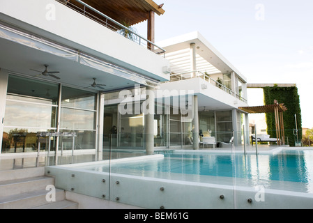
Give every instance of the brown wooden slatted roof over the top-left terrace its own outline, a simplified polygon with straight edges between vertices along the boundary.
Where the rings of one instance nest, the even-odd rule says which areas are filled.
[[[82,0],[89,6],[96,8],[101,13],[111,17],[116,22],[132,26],[139,22],[148,20],[148,13],[152,10],[157,15],[162,15],[165,10],[162,5],[158,6],[152,0]],[[75,0],[70,0],[70,3],[79,8],[84,8]],[[91,10],[87,12],[94,15]]]

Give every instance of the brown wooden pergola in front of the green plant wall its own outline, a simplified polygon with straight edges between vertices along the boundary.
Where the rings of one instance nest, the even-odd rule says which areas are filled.
[[[280,145],[285,144],[283,112],[287,111],[287,107],[285,107],[283,103],[280,104],[277,102],[277,100],[274,100],[273,105],[262,105],[262,106],[254,106],[254,107],[238,107],[238,109],[241,109],[244,112],[248,112],[251,114],[274,112],[277,145],[280,146]]]

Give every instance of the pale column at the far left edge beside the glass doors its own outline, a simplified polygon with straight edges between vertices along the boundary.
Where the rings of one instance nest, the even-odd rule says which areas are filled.
[[[6,112],[6,91],[8,89],[8,72],[0,68],[0,146],[2,145],[4,113]],[[1,154],[1,147],[0,147]]]

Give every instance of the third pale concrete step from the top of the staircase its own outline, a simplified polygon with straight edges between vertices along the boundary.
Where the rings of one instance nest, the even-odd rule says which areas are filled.
[[[22,194],[0,197],[0,209],[27,209],[50,203],[46,199],[47,190],[35,190]],[[65,200],[65,192],[56,189],[56,201]]]

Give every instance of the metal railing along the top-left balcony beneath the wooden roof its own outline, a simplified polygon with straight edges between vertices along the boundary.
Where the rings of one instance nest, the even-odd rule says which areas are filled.
[[[135,31],[133,31],[131,28],[126,27],[119,22],[116,22],[112,18],[101,13],[99,10],[96,10],[96,8],[89,6],[83,1],[75,0],[77,3],[82,5],[82,8],[70,2],[64,3],[64,1],[62,0],[56,0],[56,1],[59,1],[60,3],[63,3],[65,6],[68,6],[72,10],[75,10],[78,13],[81,13],[82,15],[89,17],[89,19],[102,24],[103,26],[107,27],[107,29],[111,29],[112,31],[115,31],[116,33],[121,34],[121,36],[124,36],[125,38],[128,38],[129,40],[132,40],[133,42],[143,47],[146,47],[152,52],[155,52],[155,54],[161,54],[163,57],[165,57],[165,49],[158,47],[158,45],[155,45],[155,43],[140,36],[138,33],[135,33]],[[91,11],[95,13],[96,15],[91,14]]]

